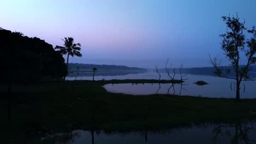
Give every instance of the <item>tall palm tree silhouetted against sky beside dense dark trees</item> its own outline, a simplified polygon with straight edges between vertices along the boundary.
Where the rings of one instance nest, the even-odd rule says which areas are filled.
[[[64,41],[64,47],[63,46],[58,46],[54,49],[59,49],[61,52],[61,55],[66,55],[67,54],[67,69],[68,69],[68,58],[69,55],[72,57],[77,56],[77,57],[82,57],[82,54],[80,53],[81,50],[81,45],[79,43],[74,44],[74,39],[73,38],[64,38],[62,39]],[[64,80],[66,79],[66,76],[64,76]]]

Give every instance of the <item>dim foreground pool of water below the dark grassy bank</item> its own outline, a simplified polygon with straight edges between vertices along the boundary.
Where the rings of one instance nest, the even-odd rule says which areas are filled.
[[[60,133],[46,136],[55,143],[255,143],[256,123],[205,124],[167,131],[104,132],[74,130],[72,133]],[[62,137],[60,139],[60,137]],[[66,137],[66,139],[64,138]],[[59,141],[58,141],[59,139]]]

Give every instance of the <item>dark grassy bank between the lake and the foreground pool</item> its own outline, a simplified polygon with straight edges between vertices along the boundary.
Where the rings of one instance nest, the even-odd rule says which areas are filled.
[[[59,81],[13,86],[11,122],[1,86],[2,131],[67,129],[165,129],[193,123],[255,119],[256,99],[200,98],[109,93],[106,83],[152,83],[155,80]],[[170,81],[162,80],[161,83]],[[14,132],[11,132],[14,133]],[[6,135],[8,133],[6,132]]]

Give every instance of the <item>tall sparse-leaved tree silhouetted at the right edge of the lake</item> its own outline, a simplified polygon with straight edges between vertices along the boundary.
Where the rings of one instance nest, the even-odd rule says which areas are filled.
[[[224,55],[231,62],[232,69],[222,69],[219,67],[220,61],[217,57],[213,59],[210,56],[210,61],[216,68],[214,73],[219,77],[226,79],[232,79],[236,81],[236,100],[240,100],[240,83],[241,81],[252,81],[249,77],[248,72],[252,71],[252,65],[256,64],[256,58],[254,57],[256,52],[256,31],[255,27],[248,30],[248,34],[252,34],[251,39],[246,40],[245,32],[245,21],[240,22],[240,19],[230,16],[222,16],[223,21],[226,23],[228,28],[225,34],[221,34],[220,37],[223,39],[221,48],[224,51]],[[245,53],[246,64],[241,65],[240,58]],[[235,72],[235,76],[229,76],[231,71]]]

